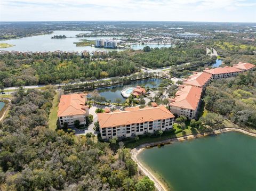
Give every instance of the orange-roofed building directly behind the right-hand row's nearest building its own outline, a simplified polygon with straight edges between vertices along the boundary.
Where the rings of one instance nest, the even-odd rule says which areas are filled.
[[[191,85],[198,88],[203,88],[210,83],[212,74],[206,72],[193,72],[193,75],[183,80],[183,85]]]

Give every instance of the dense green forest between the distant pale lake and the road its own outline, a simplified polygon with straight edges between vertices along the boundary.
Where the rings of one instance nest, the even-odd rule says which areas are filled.
[[[129,60],[90,61],[80,56],[0,56],[2,86],[59,84],[65,80],[125,76],[138,71]],[[67,82],[67,81],[66,81]],[[1,84],[0,84],[1,85]]]

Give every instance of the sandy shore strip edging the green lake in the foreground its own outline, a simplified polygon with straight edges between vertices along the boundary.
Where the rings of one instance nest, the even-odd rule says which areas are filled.
[[[203,136],[213,135],[213,134],[220,134],[222,132],[228,132],[228,131],[238,131],[238,132],[242,132],[242,133],[244,133],[246,135],[250,135],[250,136],[256,137],[256,134],[254,134],[253,132],[249,132],[249,131],[246,131],[246,130],[243,130],[243,129],[239,129],[239,128],[223,128],[223,129],[217,129],[217,130],[213,130],[213,131],[209,131],[209,132],[203,132],[201,134],[195,134],[195,135],[188,135],[188,136],[177,137],[177,138],[172,138],[172,139],[166,139],[166,140],[163,140],[161,142],[142,144],[142,145],[138,146],[137,148],[133,148],[133,150],[131,150],[131,156],[132,156],[132,159],[138,164],[138,167],[140,168],[140,170],[146,176],[148,176],[151,180],[154,181],[155,187],[159,191],[170,191],[168,188],[166,188],[164,186],[164,184],[161,181],[159,181],[153,175],[153,173],[151,173],[145,166],[142,165],[142,163],[137,159],[138,154],[141,151],[143,151],[143,149],[145,149],[148,146],[156,146],[156,145],[159,145],[159,144],[167,144],[167,143],[172,143],[172,142],[176,142],[176,141],[194,139],[194,138],[197,138],[197,137],[203,137]]]

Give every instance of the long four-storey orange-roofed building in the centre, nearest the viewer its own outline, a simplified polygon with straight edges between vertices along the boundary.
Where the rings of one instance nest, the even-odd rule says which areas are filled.
[[[102,139],[124,138],[172,129],[174,115],[165,106],[130,107],[125,111],[98,113]]]

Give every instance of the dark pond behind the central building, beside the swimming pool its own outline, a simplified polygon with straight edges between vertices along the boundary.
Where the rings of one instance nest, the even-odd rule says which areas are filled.
[[[145,85],[145,87],[149,86],[150,88],[156,88],[158,85],[162,82],[163,79],[161,78],[151,78],[151,79],[143,79],[143,80],[136,80],[131,81],[131,84],[129,85],[116,85],[116,86],[110,86],[105,88],[98,88],[96,89],[100,96],[105,97],[107,100],[111,100],[111,102],[114,102],[116,98],[121,98],[122,101],[125,100],[125,98],[121,95],[121,91],[127,87],[136,87],[136,86],[142,86]],[[90,95],[90,92],[89,92]]]

